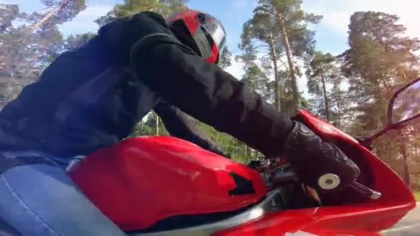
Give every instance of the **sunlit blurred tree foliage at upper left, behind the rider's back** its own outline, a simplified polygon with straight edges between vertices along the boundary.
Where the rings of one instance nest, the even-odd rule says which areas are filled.
[[[0,5],[0,84],[3,87],[0,109],[15,99],[24,86],[34,82],[55,55],[64,50],[64,39],[57,25],[70,21],[86,8],[84,0],[71,1],[61,8],[58,8],[61,1],[41,2],[46,12],[55,9],[55,14],[46,18],[48,13],[23,14],[16,5]],[[14,20],[24,24],[14,27],[11,23]],[[39,22],[43,23],[32,32],[28,25]]]

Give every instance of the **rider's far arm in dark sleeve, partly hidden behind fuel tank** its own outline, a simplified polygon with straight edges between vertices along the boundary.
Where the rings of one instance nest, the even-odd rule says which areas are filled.
[[[169,134],[173,137],[191,141],[213,153],[225,155],[225,153],[223,153],[218,146],[213,144],[209,137],[193,123],[192,119],[180,109],[164,101],[160,101],[153,110],[155,110],[162,119],[166,130],[168,130]]]

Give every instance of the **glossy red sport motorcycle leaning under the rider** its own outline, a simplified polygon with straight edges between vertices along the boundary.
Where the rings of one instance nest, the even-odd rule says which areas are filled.
[[[401,88],[390,101],[388,125],[363,141],[298,112],[294,119],[361,169],[350,188],[333,193],[308,188],[281,159],[245,166],[173,137],[125,139],[90,155],[70,175],[128,235],[379,235],[416,202],[370,144],[420,117],[419,96],[420,79]],[[339,181],[332,174],[318,179],[332,189]]]

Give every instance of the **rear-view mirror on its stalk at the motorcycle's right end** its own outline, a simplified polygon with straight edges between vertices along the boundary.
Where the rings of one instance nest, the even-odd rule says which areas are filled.
[[[414,79],[392,96],[388,104],[387,126],[361,143],[371,146],[372,141],[388,130],[403,128],[408,122],[420,117],[420,77]]]

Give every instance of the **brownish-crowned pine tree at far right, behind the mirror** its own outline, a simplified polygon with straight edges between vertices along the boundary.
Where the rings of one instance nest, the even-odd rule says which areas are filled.
[[[343,71],[350,77],[349,95],[356,104],[354,130],[364,136],[385,126],[388,100],[397,88],[418,75],[419,61],[414,51],[420,48],[420,41],[403,36],[406,29],[397,23],[398,19],[396,15],[372,11],[355,12],[350,18],[350,49],[343,54]],[[376,141],[376,150],[394,146],[383,140],[386,137],[390,136]],[[404,139],[397,135],[394,143],[397,144],[395,150],[402,156],[403,179],[409,184]],[[389,150],[383,157],[388,158],[387,155],[390,155]]]

